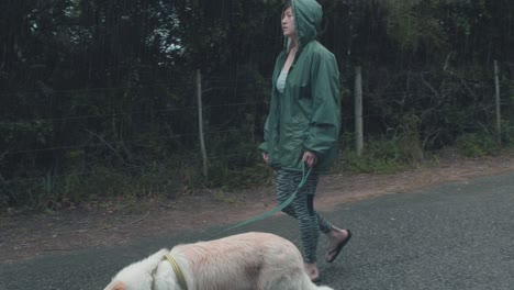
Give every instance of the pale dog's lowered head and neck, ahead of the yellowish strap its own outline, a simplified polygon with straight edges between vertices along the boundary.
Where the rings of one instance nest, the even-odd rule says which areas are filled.
[[[134,263],[121,270],[104,290],[150,290],[153,274],[167,249],[161,249],[144,260]]]

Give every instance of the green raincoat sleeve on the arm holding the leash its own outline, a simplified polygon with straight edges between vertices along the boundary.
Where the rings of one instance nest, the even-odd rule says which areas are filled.
[[[304,146],[323,157],[337,146],[340,130],[339,70],[333,54],[314,56],[311,80],[313,111]]]

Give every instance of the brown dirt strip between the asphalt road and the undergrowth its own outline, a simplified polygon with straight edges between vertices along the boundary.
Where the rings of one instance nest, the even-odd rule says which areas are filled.
[[[447,158],[437,166],[391,175],[331,175],[322,178],[316,208],[429,186],[514,171],[513,154]],[[148,200],[125,209],[75,209],[53,214],[0,214],[0,261],[121,245],[182,228],[232,224],[276,207],[272,187],[236,193],[199,192],[166,203]]]

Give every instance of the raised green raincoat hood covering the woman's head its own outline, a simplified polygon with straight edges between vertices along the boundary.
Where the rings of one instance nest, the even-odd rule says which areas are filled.
[[[300,47],[303,47],[309,42],[316,40],[323,20],[323,10],[315,0],[292,0],[291,5],[297,37]]]

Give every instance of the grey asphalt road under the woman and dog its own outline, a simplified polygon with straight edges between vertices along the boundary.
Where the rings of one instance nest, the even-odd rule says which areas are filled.
[[[353,231],[338,259],[323,261],[335,289],[514,289],[514,172],[340,205],[325,215]],[[1,290],[103,289],[124,266],[223,227],[170,233],[131,245],[0,264]],[[238,228],[299,245],[295,222],[270,217]]]

